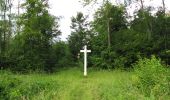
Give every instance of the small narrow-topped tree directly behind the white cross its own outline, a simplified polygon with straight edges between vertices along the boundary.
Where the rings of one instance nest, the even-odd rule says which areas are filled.
[[[68,43],[72,56],[74,60],[77,61],[77,55],[80,52],[80,49],[82,49],[84,45],[89,44],[91,33],[83,13],[78,12],[76,17],[71,18],[71,21],[72,32],[68,37]]]

